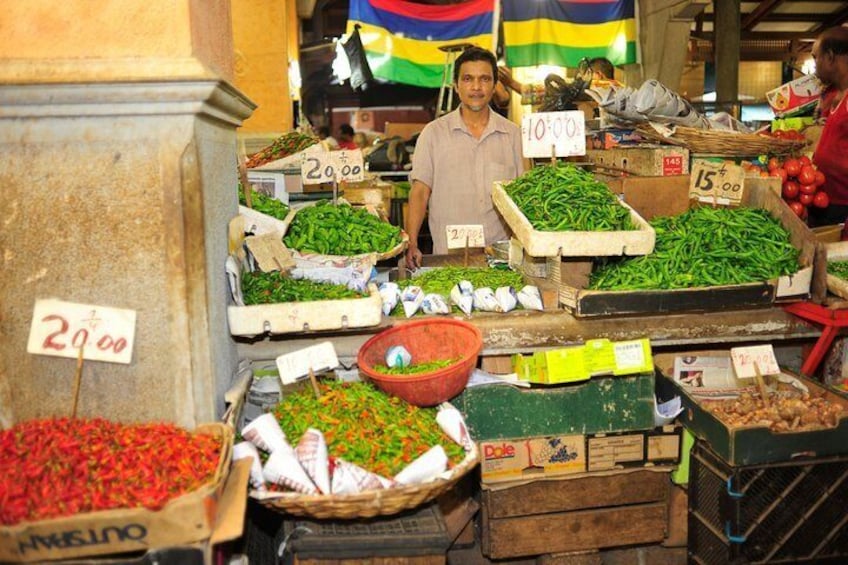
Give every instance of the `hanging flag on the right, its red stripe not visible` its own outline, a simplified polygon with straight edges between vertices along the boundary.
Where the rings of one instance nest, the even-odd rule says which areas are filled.
[[[501,0],[506,64],[636,62],[636,0]]]

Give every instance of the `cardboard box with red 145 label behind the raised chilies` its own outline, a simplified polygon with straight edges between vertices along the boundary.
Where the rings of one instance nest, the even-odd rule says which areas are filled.
[[[600,150],[587,149],[586,159],[592,163],[623,169],[630,174],[643,177],[689,174],[689,150],[684,147],[643,145]]]

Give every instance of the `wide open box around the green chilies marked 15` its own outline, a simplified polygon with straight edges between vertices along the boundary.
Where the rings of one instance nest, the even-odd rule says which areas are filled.
[[[760,181],[765,182],[760,182]],[[549,259],[548,280],[559,286],[560,304],[577,317],[666,312],[714,311],[769,306],[810,296],[814,278],[824,278],[816,261],[818,243],[810,229],[770,188],[769,179],[746,179],[743,205],[768,210],[789,230],[800,251],[801,268],[793,275],[740,285],[675,290],[587,290],[591,264]],[[642,217],[681,214],[689,207],[689,176],[625,178],[611,183]]]

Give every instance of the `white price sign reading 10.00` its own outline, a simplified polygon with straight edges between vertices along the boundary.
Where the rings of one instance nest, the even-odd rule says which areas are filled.
[[[586,154],[583,112],[536,112],[521,120],[525,157],[565,157]]]

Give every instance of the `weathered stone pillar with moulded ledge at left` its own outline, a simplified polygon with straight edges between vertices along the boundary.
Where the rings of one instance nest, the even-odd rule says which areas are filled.
[[[223,411],[237,212],[227,0],[30,0],[0,14],[0,426],[70,413],[75,361],[26,352],[55,297],[137,312],[132,363],[87,361],[79,414]]]

